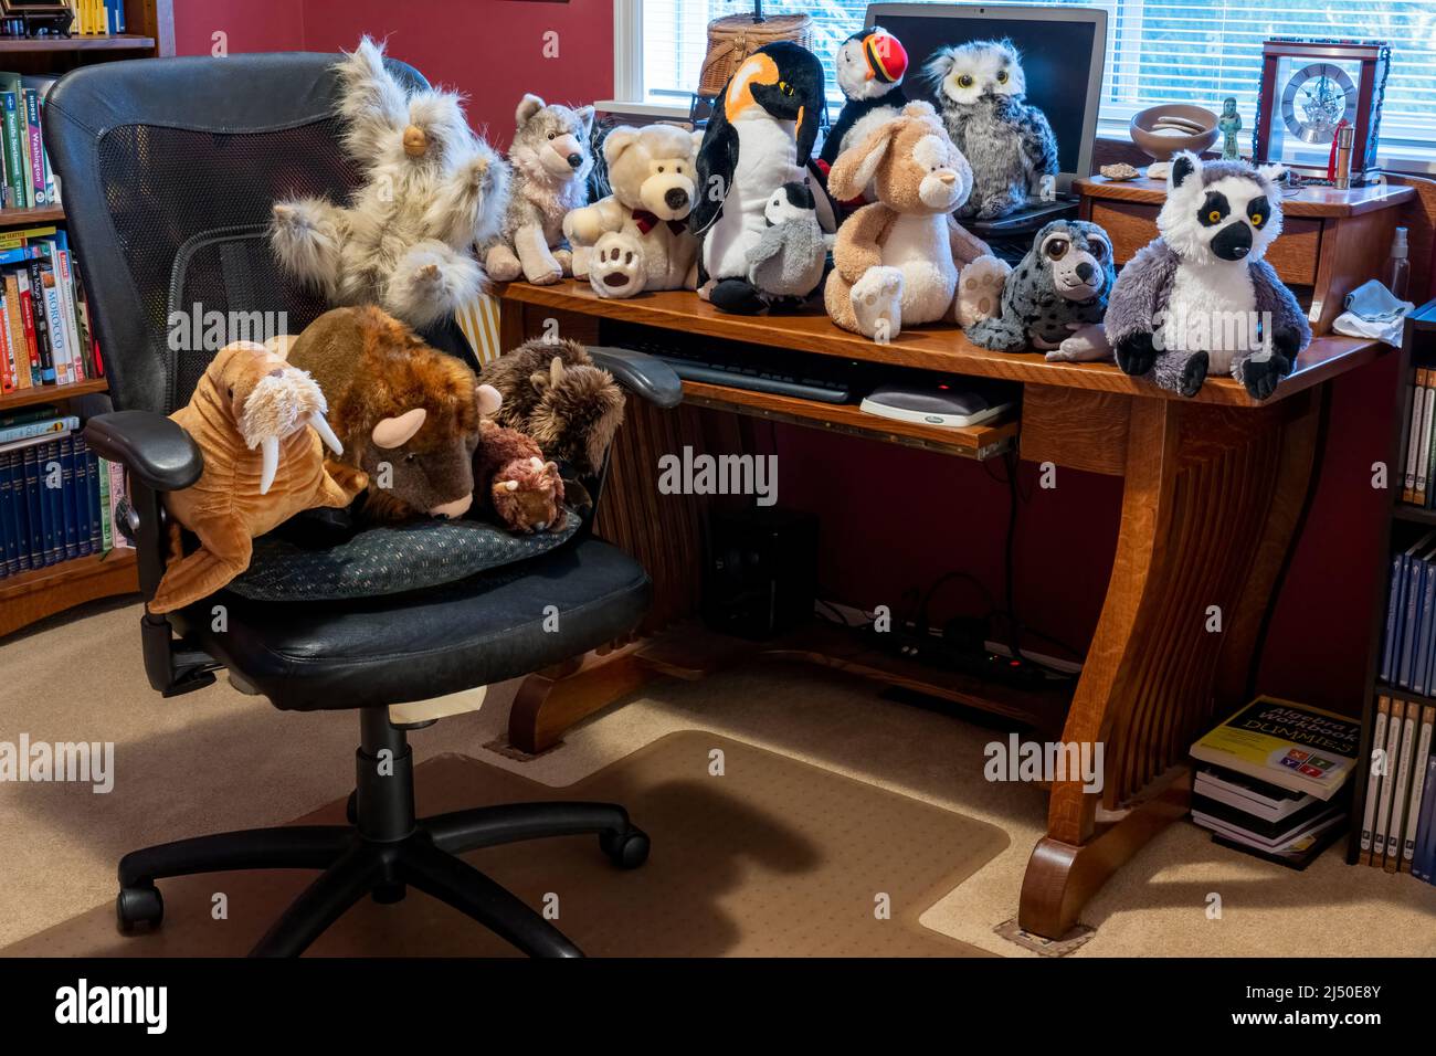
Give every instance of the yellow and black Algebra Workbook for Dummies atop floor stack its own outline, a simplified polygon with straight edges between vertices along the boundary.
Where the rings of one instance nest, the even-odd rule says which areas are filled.
[[[1203,763],[1330,800],[1351,776],[1361,723],[1346,715],[1258,697],[1192,746]]]

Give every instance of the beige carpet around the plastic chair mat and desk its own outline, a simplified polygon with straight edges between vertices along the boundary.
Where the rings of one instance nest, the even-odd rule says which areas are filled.
[[[70,784],[0,784],[0,944],[113,898],[132,848],[207,830],[279,825],[352,783],[353,715],[280,714],[223,682],[154,694],[138,649],[138,606],[86,609],[0,644],[0,740],[116,743],[108,796]],[[455,751],[549,786],[572,784],[678,730],[708,730],[899,792],[1002,829],[1010,843],[922,914],[971,945],[1030,955],[994,934],[1017,912],[1045,796],[982,779],[988,717],[956,718],[882,700],[877,687],[801,664],[755,662],[705,682],[661,681],[570,731],[530,763],[482,749],[504,726],[513,685],[477,714],[412,737],[419,759]],[[1005,736],[1005,730],[998,730]],[[1209,915],[1211,895],[1221,917]],[[1088,905],[1097,934],[1074,957],[1436,955],[1436,888],[1344,865],[1333,849],[1304,874],[1213,846],[1179,823]],[[1315,937],[1315,938],[1314,938]],[[1035,954],[1031,954],[1035,955]]]

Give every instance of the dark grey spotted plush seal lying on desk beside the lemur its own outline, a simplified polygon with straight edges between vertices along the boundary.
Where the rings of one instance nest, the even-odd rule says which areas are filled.
[[[998,352],[1034,348],[1053,362],[1107,359],[1100,323],[1116,280],[1106,231],[1086,220],[1054,220],[1007,276],[1001,315],[966,328],[968,339]]]

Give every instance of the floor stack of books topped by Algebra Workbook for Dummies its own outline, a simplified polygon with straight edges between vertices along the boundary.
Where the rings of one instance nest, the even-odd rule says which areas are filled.
[[[1192,820],[1212,839],[1305,869],[1346,829],[1361,723],[1258,697],[1192,746]]]

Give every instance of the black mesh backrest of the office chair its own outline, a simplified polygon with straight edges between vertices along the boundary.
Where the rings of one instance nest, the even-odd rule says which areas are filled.
[[[343,201],[359,178],[335,57],[113,62],[52,88],[46,147],[116,408],[169,414],[223,343],[299,333],[325,310],[280,269],[267,224],[276,200]]]

